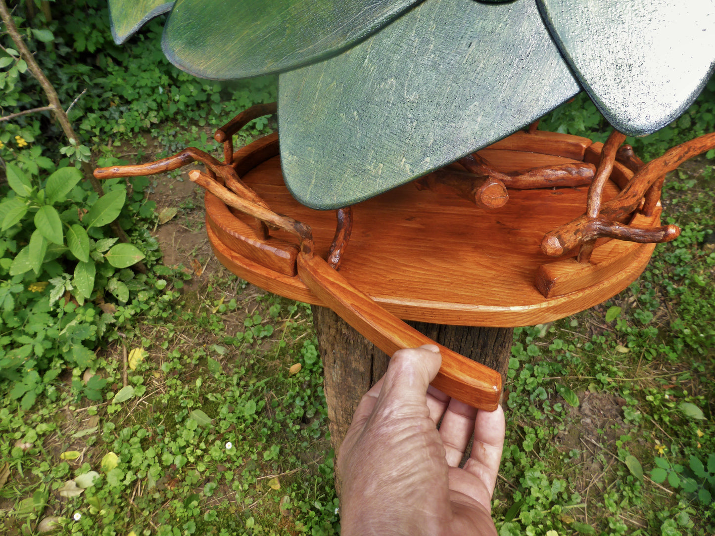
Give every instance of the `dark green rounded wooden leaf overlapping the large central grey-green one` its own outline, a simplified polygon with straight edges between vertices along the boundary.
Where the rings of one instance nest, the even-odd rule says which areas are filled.
[[[325,59],[420,0],[177,0],[162,48],[196,76],[244,78]]]

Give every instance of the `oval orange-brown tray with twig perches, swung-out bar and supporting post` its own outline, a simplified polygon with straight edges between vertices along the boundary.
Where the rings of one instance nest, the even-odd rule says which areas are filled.
[[[501,395],[508,328],[579,312],[633,282],[655,243],[679,234],[673,225],[660,227],[664,174],[715,145],[715,134],[708,134],[644,165],[630,147],[618,149],[624,139],[618,131],[600,144],[534,128],[418,181],[327,212],[296,202],[285,187],[278,134],[234,150],[232,136],[242,126],[272,113],[275,105],[254,106],[217,130],[225,162],[191,148],[95,175],[146,175],[204,163],[206,172],[189,177],[207,189],[206,229],[217,258],[263,289],[329,307],[388,355],[433,342],[422,332],[438,337],[435,326],[483,327],[476,336],[452,329],[439,337],[492,368],[443,346],[433,384],[487,410]],[[316,318],[337,322],[322,313]],[[358,348],[345,327],[332,342],[330,329],[317,329],[337,446],[386,357],[378,364],[375,349]]]

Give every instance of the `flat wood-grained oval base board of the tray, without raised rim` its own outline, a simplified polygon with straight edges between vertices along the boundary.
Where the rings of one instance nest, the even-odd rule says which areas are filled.
[[[558,144],[551,150],[557,152]],[[489,148],[480,153],[487,154],[489,162],[499,169],[531,169],[535,160],[540,164],[575,162],[558,154],[550,157],[508,149]],[[620,169],[624,177],[631,174],[618,163],[614,169]],[[282,182],[278,157],[257,165],[242,179],[269,199],[276,212],[309,224],[315,254],[327,257],[335,214],[295,201]],[[616,184],[606,183],[604,200],[618,191]],[[541,239],[546,232],[583,214],[587,192],[586,187],[513,190],[504,207],[484,210],[457,194],[420,192],[415,185],[405,184],[352,207],[352,234],[340,273],[402,319],[513,327],[561,318],[626,288],[644,269],[653,251],[650,246],[629,244],[636,250],[626,247],[623,257],[614,261],[618,268],[604,272],[605,279],[589,281],[586,288],[567,294],[543,297],[535,284],[538,271],[543,264],[560,259],[541,252]],[[209,202],[209,238],[217,257],[229,269],[270,292],[325,305],[299,279],[267,269],[222,244],[212,231],[221,221],[208,209],[210,206]],[[645,223],[657,225],[659,219],[654,215]],[[272,234],[292,240],[287,233]],[[596,244],[596,252],[604,243],[601,240]]]

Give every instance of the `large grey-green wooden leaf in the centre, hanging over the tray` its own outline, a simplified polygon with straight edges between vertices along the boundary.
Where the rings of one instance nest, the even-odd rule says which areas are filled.
[[[278,87],[286,184],[319,209],[464,157],[578,91],[526,0],[426,1],[340,56],[281,74]]]

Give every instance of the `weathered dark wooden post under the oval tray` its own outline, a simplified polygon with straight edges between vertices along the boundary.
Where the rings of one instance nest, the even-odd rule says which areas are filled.
[[[360,398],[385,374],[390,358],[332,309],[314,305],[312,313],[325,375],[330,438],[337,454]],[[435,342],[495,369],[502,382],[506,380],[513,328],[408,324]],[[337,474],[335,479],[339,494]]]

